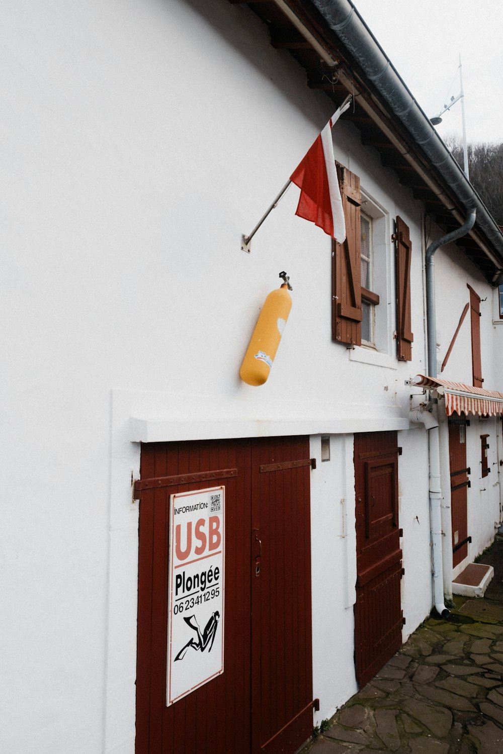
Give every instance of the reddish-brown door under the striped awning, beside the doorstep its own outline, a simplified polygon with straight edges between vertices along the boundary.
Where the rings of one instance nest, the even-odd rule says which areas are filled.
[[[452,566],[458,566],[468,556],[467,488],[470,482],[466,465],[466,426],[466,419],[455,413],[449,418]]]

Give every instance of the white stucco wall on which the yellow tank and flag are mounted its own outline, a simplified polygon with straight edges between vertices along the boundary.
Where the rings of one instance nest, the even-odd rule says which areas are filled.
[[[410,226],[413,361],[395,357],[389,238],[384,353],[334,344],[330,239],[294,215],[297,189],[240,250],[333,112],[247,8],[17,0],[1,17],[0,748],[133,752],[140,440],[302,433],[316,453],[331,433],[333,461],[311,475],[314,690],[329,716],[355,688],[354,431],[401,430],[405,635],[431,606],[428,448],[405,385],[426,369],[422,207],[337,125],[336,158],[388,237],[397,214]],[[258,390],[238,369],[283,269],[293,309]]]

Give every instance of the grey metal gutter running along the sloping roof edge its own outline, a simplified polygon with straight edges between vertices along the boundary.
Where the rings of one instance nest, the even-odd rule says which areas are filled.
[[[476,231],[471,231],[470,235],[477,241],[486,256],[491,259],[492,264],[495,265],[496,273],[493,278],[493,283],[495,283],[503,272],[503,234],[501,234],[495,220],[475,192],[474,187],[466,178],[465,173],[452,158],[449,150],[438,136],[428,116],[422,111],[396,69],[392,66],[391,61],[358,14],[351,0],[311,0],[311,5],[317,8],[327,26],[342,41],[345,49],[358,63],[366,77],[372,81],[385,103],[388,104],[391,112],[413,137],[414,142],[419,146],[428,162],[437,168],[446,185],[455,192],[466,210],[477,210],[477,226],[486,234],[486,238],[493,244],[494,250],[489,249],[487,244],[483,243]],[[345,81],[339,76],[339,81],[342,81],[351,92],[353,83],[347,76],[344,78]],[[443,189],[440,188],[434,177],[428,176],[425,168],[419,166],[417,159],[410,154],[406,145],[400,143],[400,140],[394,136],[391,128],[385,125],[382,118],[376,117],[376,110],[373,110],[370,103],[367,103],[363,97],[360,97],[358,101],[374,121],[380,121],[379,127],[382,128],[383,133],[394,143],[394,146],[397,146],[400,154],[413,165],[452,215],[459,222],[463,222],[464,218],[455,210],[455,207],[452,207],[452,202],[444,194]]]

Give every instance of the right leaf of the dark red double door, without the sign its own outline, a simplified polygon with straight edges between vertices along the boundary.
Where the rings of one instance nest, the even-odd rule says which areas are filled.
[[[308,437],[256,440],[252,462],[252,751],[280,754],[313,728]]]

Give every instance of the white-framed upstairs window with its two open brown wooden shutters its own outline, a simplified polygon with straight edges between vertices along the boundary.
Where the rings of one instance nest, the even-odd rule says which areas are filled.
[[[348,347],[350,360],[396,369],[395,348],[398,360],[410,360],[413,340],[409,228],[397,217],[397,222],[400,220],[398,235],[403,238],[405,253],[400,247],[400,265],[395,265],[397,250],[391,245],[394,223],[391,227],[389,213],[379,200],[361,189],[355,173],[339,163],[336,167],[347,236],[342,243],[333,241],[332,339]],[[401,265],[402,257],[406,265]],[[400,271],[400,288],[396,290],[392,281],[394,271]],[[398,290],[403,294],[401,297],[395,296]],[[400,334],[395,330],[398,302],[403,302]],[[398,346],[402,336],[408,339],[409,348]]]

